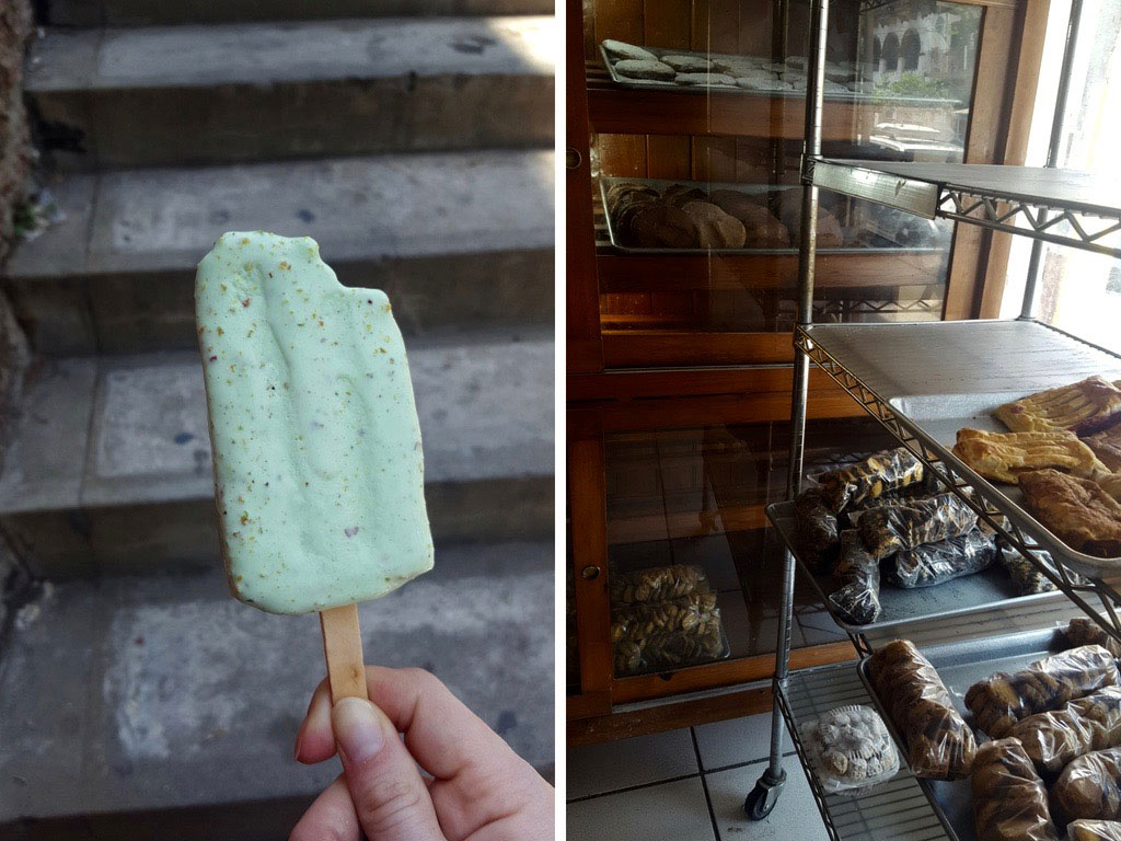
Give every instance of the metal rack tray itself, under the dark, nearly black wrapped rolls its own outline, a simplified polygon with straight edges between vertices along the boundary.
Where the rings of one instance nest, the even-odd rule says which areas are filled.
[[[993,608],[1006,608],[1044,600],[1064,599],[1058,591],[1020,595],[1011,576],[994,562],[982,572],[963,575],[934,586],[907,589],[883,582],[880,586],[880,619],[868,625],[850,625],[833,612],[828,594],[835,589],[831,575],[815,574],[798,553],[794,502],[772,502],[767,506],[767,518],[775,525],[782,542],[798,562],[798,566],[821,595],[833,621],[846,634],[881,634],[925,619],[946,619],[962,613],[975,613]]]

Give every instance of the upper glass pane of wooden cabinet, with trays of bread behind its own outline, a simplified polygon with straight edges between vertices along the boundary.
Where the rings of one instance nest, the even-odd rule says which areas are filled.
[[[605,335],[628,346],[692,335],[693,355],[679,361],[695,363],[706,342],[728,346],[722,334],[789,331],[808,2],[789,4],[786,21],[777,3],[752,0],[627,6],[638,21],[608,0],[591,6]],[[834,2],[823,151],[961,160],[982,18],[979,6],[935,0],[863,12],[855,0]],[[952,232],[945,221],[823,193],[815,318],[941,318]],[[753,358],[754,348],[743,343],[738,361],[773,361]]]

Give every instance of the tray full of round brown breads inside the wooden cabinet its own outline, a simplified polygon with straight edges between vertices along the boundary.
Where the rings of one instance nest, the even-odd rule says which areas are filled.
[[[612,247],[637,255],[797,256],[797,185],[600,177]],[[819,253],[938,253],[949,225],[846,198],[817,214]],[[937,283],[932,278],[930,283]]]

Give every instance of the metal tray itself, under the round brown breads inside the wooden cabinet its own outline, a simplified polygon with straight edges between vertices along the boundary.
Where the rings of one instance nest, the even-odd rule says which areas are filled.
[[[665,187],[680,184],[686,187],[700,190],[705,194],[711,194],[715,190],[735,190],[740,193],[771,193],[784,190],[800,190],[797,184],[741,184],[741,183],[714,183],[704,181],[685,181],[674,178],[624,178],[618,176],[600,177],[600,201],[603,205],[603,218],[608,225],[608,237],[611,247],[626,255],[736,255],[759,256],[759,257],[797,257],[797,246],[789,248],[634,248],[622,244],[615,237],[614,223],[611,219],[611,209],[608,206],[608,191],[615,184],[641,184],[654,187],[660,193]],[[901,211],[899,211],[901,213]],[[798,235],[797,230],[790,231],[791,240]],[[944,240],[941,244],[933,246],[846,246],[843,248],[819,248],[818,255],[930,255],[943,253],[949,246],[949,229],[945,231]],[[937,278],[930,279],[932,284],[937,284]]]

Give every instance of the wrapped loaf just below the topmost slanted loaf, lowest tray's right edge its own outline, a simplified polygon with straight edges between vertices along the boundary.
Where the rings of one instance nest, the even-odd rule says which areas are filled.
[[[1058,774],[1072,759],[1121,746],[1121,686],[1106,686],[1058,710],[1021,719],[1012,736],[1040,773]]]

